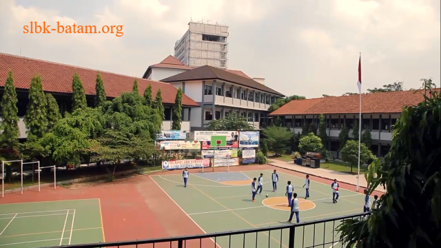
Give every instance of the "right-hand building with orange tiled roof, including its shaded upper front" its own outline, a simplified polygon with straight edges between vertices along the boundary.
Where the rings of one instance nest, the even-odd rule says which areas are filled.
[[[339,134],[343,127],[349,129],[349,138],[353,137],[353,125],[359,121],[360,95],[330,96],[320,99],[293,100],[271,112],[269,116],[280,117],[282,125],[299,134],[304,125],[314,123],[318,128],[320,114],[323,114],[328,136],[327,149],[335,158],[341,158],[339,152]],[[392,126],[400,118],[402,107],[418,105],[424,98],[421,92],[402,91],[362,94],[362,134],[371,132],[371,150],[376,156],[384,156],[390,149]]]

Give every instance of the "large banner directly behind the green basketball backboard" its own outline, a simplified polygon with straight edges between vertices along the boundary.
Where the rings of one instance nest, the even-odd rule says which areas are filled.
[[[201,141],[202,149],[237,148],[238,131],[195,131],[194,140]]]

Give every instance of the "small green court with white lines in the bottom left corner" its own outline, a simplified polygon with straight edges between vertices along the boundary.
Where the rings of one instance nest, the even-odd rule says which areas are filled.
[[[0,205],[0,247],[103,242],[99,199]]]

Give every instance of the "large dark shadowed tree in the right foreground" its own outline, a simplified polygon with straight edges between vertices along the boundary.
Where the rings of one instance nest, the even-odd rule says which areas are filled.
[[[345,247],[441,247],[441,95],[428,87],[403,108],[384,162],[369,165],[368,194],[386,190],[368,218],[342,220]]]

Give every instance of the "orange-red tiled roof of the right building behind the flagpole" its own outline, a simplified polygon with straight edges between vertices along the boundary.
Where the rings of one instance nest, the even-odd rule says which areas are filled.
[[[434,89],[440,91],[440,89]],[[400,113],[402,107],[418,105],[422,90],[362,94],[362,113]],[[269,115],[356,114],[360,111],[360,95],[329,96],[320,99],[292,100]]]

